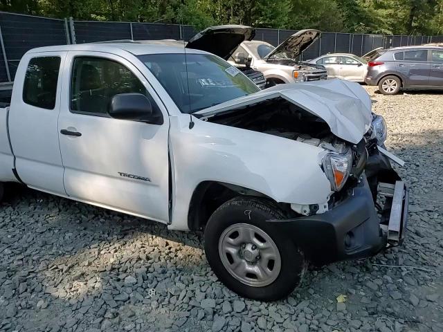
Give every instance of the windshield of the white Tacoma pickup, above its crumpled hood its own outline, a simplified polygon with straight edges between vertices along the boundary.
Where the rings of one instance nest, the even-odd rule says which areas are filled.
[[[151,54],[138,59],[168,91],[182,113],[195,113],[260,91],[237,68],[215,55]]]

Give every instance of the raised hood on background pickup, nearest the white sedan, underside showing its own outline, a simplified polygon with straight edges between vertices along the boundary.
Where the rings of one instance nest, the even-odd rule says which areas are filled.
[[[264,59],[269,59],[278,53],[286,53],[291,59],[296,59],[303,50],[308,48],[312,43],[319,38],[321,32],[314,29],[300,30],[297,33],[289,36],[282,44],[278,45],[274,50],[266,55]]]

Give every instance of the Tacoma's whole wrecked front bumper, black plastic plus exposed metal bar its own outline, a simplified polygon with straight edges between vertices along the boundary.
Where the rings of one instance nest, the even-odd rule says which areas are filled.
[[[392,171],[393,172],[393,171]],[[381,183],[380,183],[381,185]],[[369,257],[401,243],[406,229],[408,190],[402,181],[380,187],[386,194],[381,216],[365,175],[332,210],[313,216],[275,220],[314,265]]]

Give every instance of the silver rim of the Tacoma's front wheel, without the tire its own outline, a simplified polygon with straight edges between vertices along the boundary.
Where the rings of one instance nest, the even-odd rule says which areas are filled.
[[[248,286],[271,284],[282,267],[280,252],[271,237],[248,223],[235,223],[221,233],[219,255],[228,273]]]

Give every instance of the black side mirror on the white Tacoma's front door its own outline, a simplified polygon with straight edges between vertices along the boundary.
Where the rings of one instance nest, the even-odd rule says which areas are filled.
[[[109,116],[120,120],[152,120],[152,104],[141,93],[119,93],[114,95],[109,107]]]

